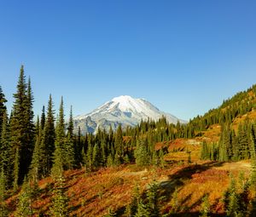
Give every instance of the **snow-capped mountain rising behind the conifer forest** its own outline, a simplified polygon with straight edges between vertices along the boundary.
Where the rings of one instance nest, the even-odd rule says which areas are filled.
[[[134,99],[129,95],[121,95],[113,98],[91,111],[89,114],[80,115],[74,118],[75,132],[80,127],[81,133],[95,133],[97,128],[109,129],[112,126],[115,130],[119,124],[123,128],[136,126],[141,120],[147,120],[148,117],[157,121],[165,116],[169,123],[186,123],[166,112],[160,111],[150,102],[144,99]]]

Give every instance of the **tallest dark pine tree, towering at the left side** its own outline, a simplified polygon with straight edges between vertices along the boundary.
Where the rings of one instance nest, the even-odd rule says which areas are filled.
[[[34,142],[32,89],[30,81],[28,85],[26,83],[23,66],[20,68],[20,77],[14,98],[15,102],[13,104],[10,122],[10,146],[13,150],[13,156],[19,150],[20,156],[18,158],[20,167],[18,171],[18,183],[21,183],[31,163]]]

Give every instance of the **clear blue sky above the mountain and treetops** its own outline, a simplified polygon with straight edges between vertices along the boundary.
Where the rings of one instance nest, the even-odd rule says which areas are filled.
[[[256,82],[256,2],[1,1],[0,85],[20,65],[35,113],[53,95],[84,114],[115,96],[188,120]]]

